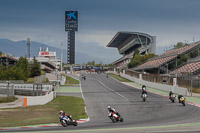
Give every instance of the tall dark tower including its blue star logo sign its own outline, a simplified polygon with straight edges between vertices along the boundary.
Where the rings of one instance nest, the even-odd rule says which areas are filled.
[[[65,11],[67,35],[67,64],[75,64],[75,31],[78,31],[78,11]]]

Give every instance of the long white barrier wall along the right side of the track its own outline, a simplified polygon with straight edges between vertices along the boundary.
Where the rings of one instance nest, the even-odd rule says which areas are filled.
[[[159,83],[153,83],[153,82],[145,81],[145,80],[138,79],[138,78],[135,78],[135,77],[131,77],[131,76],[123,74],[123,73],[121,73],[120,76],[127,78],[131,81],[134,81],[138,84],[146,85],[146,86],[158,89],[158,90],[163,90],[163,91],[167,91],[167,92],[173,91],[174,93],[177,93],[177,94],[189,96],[189,92],[188,92],[187,88],[182,88],[182,87],[178,87],[178,86],[170,86],[170,85],[159,84]]]

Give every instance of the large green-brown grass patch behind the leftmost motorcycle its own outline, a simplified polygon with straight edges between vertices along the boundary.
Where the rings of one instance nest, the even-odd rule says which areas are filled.
[[[45,105],[0,110],[0,127],[16,127],[37,124],[59,123],[60,110],[76,120],[87,118],[83,98],[57,96]]]

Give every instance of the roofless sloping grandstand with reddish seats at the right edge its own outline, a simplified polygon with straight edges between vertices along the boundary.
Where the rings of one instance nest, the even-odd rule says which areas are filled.
[[[188,58],[192,60],[198,55],[200,55],[200,42],[195,42],[181,48],[166,51],[164,54],[153,57],[132,70],[155,74],[175,74],[186,69],[186,72],[196,72],[200,69],[197,59],[196,63],[186,63]]]

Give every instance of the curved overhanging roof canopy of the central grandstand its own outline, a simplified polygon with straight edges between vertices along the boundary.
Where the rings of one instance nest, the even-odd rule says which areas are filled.
[[[107,47],[118,48],[120,44],[122,44],[132,35],[145,35],[150,37],[150,35],[145,33],[120,31],[117,32],[117,34],[112,38],[112,40],[108,43]]]

